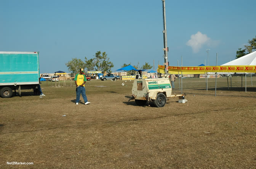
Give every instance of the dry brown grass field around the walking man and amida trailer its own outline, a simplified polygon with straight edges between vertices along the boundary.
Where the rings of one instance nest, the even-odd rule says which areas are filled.
[[[0,168],[256,168],[255,97],[187,89],[187,103],[137,106],[123,82],[87,82],[89,105],[75,105],[75,86],[46,82],[43,98],[0,98]]]

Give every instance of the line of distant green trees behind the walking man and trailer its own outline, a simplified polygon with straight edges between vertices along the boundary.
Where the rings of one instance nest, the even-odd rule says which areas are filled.
[[[123,64],[122,67],[128,65],[131,65],[131,63]],[[111,61],[109,61],[109,57],[107,57],[106,52],[101,53],[101,51],[97,51],[94,55],[94,58],[87,59],[85,57],[84,61],[82,59],[72,58],[71,61],[68,61],[68,63],[66,63],[66,66],[72,74],[77,74],[80,68],[83,68],[86,71],[100,71],[102,73],[106,71],[107,73],[111,73],[111,69],[112,67],[114,67],[114,64]],[[140,67],[138,62],[138,64],[134,65],[133,67],[135,69],[151,69],[153,66],[146,62],[144,65]],[[135,70],[125,72],[127,72],[128,75],[136,74]]]

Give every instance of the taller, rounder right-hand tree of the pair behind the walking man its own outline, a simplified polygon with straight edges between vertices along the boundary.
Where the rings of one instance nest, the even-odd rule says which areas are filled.
[[[101,51],[97,51],[95,53],[94,64],[96,66],[97,71],[101,72],[106,71],[111,73],[112,71],[110,69],[114,67],[114,64],[109,61],[107,53],[103,52],[101,55]]]

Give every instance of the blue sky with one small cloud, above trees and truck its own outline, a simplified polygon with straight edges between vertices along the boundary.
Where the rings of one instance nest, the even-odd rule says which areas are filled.
[[[255,0],[166,0],[170,66],[235,59],[256,36]],[[106,52],[114,63],[163,65],[162,0],[0,0],[0,51],[40,52],[40,73]]]

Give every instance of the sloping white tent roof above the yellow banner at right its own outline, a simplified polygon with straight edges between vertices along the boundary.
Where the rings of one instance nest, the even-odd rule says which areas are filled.
[[[239,65],[256,65],[256,51],[249,53],[248,55],[242,56],[241,58],[232,60],[228,63],[222,64],[221,66],[239,66]]]

